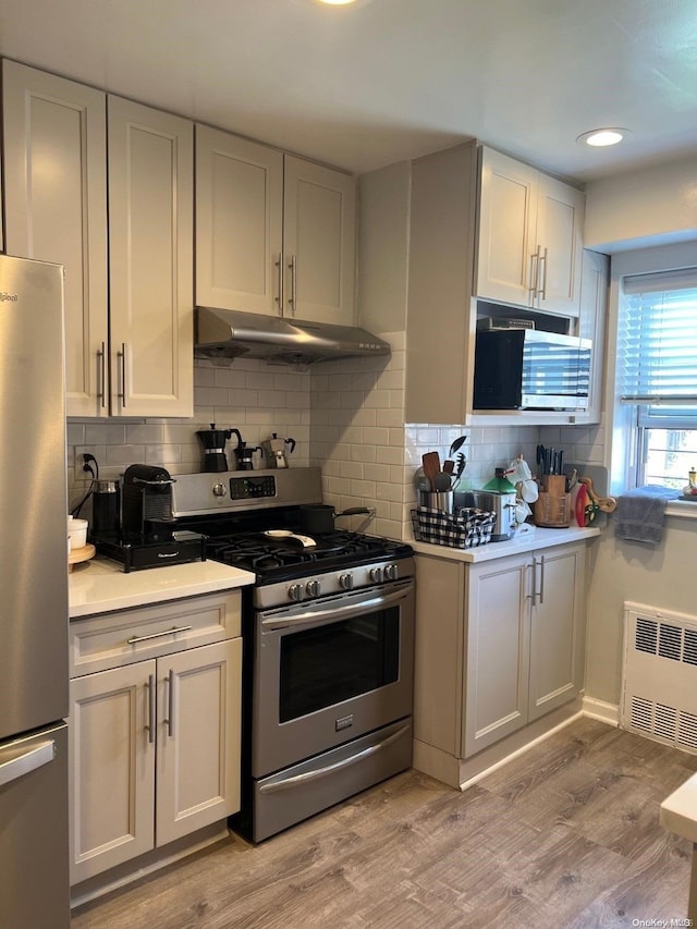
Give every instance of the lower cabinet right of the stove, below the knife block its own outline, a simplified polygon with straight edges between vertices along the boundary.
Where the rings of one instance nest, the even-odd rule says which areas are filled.
[[[416,565],[415,767],[456,785],[466,759],[578,697],[586,545]]]

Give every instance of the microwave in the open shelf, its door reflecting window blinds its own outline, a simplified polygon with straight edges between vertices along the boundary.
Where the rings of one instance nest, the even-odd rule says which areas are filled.
[[[586,410],[592,343],[539,329],[482,329],[475,410]]]

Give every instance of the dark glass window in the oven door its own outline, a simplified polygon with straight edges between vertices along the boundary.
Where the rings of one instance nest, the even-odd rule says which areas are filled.
[[[279,718],[289,722],[398,681],[400,609],[286,633]]]

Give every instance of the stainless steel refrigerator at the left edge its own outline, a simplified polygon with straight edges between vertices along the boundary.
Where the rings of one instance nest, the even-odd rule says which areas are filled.
[[[0,255],[0,926],[70,925],[63,269]]]

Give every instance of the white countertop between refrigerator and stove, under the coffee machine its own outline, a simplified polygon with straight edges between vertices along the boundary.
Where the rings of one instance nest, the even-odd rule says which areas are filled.
[[[254,584],[254,574],[217,561],[193,561],[126,574],[121,564],[96,558],[76,564],[69,575],[71,620],[179,600],[198,594]]]

